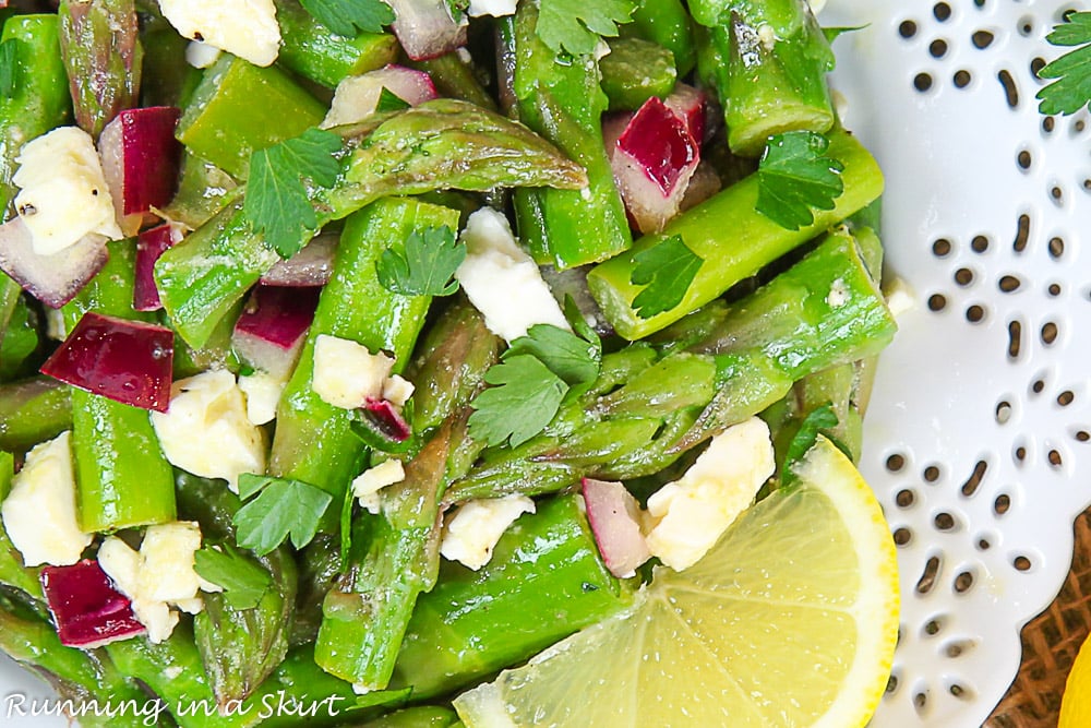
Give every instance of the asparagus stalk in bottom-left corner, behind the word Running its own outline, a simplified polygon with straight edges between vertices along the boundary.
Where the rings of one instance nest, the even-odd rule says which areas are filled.
[[[85,728],[148,725],[144,719],[158,715],[154,699],[130,682],[101,651],[62,645],[52,624],[3,605],[0,651],[46,680],[61,700],[71,701],[73,717]]]

